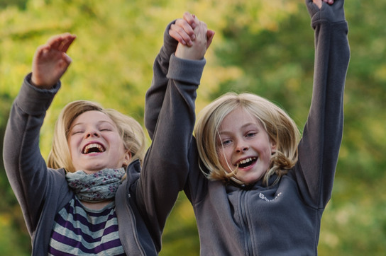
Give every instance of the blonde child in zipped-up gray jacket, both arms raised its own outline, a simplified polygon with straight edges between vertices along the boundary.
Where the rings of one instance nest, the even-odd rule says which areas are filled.
[[[189,163],[178,175],[187,173],[184,192],[197,219],[201,255],[317,255],[321,216],[331,198],[343,135],[350,58],[343,2],[306,0],[316,54],[301,139],[285,111],[250,93],[227,93],[200,112]],[[192,17],[176,24],[179,28],[170,35],[178,47],[189,47]],[[167,71],[175,67],[162,68],[168,78]],[[150,132],[162,100],[169,100],[162,95],[167,83],[153,86],[145,112]],[[194,118],[194,109],[180,112],[181,120],[188,117]]]

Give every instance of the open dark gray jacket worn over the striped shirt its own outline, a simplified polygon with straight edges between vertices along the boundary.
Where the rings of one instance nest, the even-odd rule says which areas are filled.
[[[204,59],[194,63],[177,61],[180,68],[175,76],[181,79],[170,81],[166,91],[170,101],[164,103],[170,111],[160,112],[160,118],[169,121],[153,129],[155,135],[142,170],[140,162],[133,161],[126,170],[127,178],[118,187],[115,198],[118,232],[126,255],[158,255],[161,250],[166,218],[187,180],[187,172],[179,170],[188,165],[187,151],[195,121],[192,91],[195,94],[204,65]],[[185,74],[192,69],[196,75],[186,79]],[[47,168],[39,150],[40,127],[61,84],[41,90],[32,86],[30,79],[31,74],[26,76],[12,105],[3,158],[32,238],[32,255],[40,256],[47,255],[55,215],[70,201],[73,192],[67,186],[65,170]],[[171,118],[178,111],[191,114],[180,122]]]

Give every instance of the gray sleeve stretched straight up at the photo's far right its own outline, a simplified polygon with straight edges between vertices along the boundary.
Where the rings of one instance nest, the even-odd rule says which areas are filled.
[[[331,198],[343,135],[343,93],[350,59],[343,2],[336,0],[331,6],[323,2],[319,10],[306,1],[315,31],[314,86],[295,175],[304,199],[319,209]]]

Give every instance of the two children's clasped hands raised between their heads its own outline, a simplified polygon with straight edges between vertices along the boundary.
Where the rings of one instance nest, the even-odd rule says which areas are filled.
[[[179,42],[175,56],[182,59],[202,59],[211,45],[214,31],[189,12],[170,26],[169,35]]]

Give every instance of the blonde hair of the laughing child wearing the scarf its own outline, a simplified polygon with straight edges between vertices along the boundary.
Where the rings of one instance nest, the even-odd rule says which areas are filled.
[[[72,165],[71,153],[68,147],[68,135],[72,122],[82,113],[99,111],[113,120],[118,128],[118,133],[123,140],[123,146],[131,153],[131,161],[143,161],[145,155],[145,134],[140,124],[133,119],[113,109],[105,109],[99,103],[87,100],[77,100],[67,104],[57,119],[53,135],[53,146],[48,155],[49,168],[65,168],[68,172],[75,172]]]

